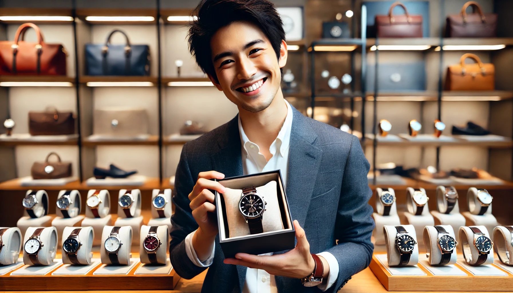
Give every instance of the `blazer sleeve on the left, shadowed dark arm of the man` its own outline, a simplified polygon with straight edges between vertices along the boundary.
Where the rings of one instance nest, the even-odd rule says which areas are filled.
[[[174,180],[174,213],[171,216],[171,230],[169,236],[169,259],[177,274],[184,279],[192,279],[200,274],[206,267],[196,266],[187,256],[185,249],[185,237],[192,231],[198,229],[196,220],[192,217],[192,210],[189,207],[189,193],[195,184],[187,161],[187,144],[182,148],[180,162],[176,168]]]

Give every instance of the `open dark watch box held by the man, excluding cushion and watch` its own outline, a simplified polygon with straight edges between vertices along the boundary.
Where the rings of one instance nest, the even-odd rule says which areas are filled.
[[[227,208],[223,194],[214,191],[216,215],[219,227],[219,243],[223,249],[225,258],[234,258],[235,253],[243,252],[251,255],[260,255],[262,253],[283,251],[292,249],[295,246],[295,229],[292,225],[285,187],[283,185],[280,170],[255,173],[237,177],[230,177],[217,180],[223,186],[231,189],[242,189],[248,186],[264,186],[271,181],[277,182],[277,204],[280,210],[280,217],[283,229],[268,231],[254,235],[230,237],[228,228]],[[242,193],[241,193],[242,195]],[[265,194],[261,194],[265,199]],[[264,212],[263,217],[266,216]]]

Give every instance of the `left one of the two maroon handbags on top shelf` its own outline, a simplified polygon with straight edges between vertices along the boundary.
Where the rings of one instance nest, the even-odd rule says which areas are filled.
[[[396,6],[404,8],[402,15],[392,15]],[[422,15],[410,15],[401,2],[393,3],[388,15],[376,15],[376,35],[378,37],[422,37]]]

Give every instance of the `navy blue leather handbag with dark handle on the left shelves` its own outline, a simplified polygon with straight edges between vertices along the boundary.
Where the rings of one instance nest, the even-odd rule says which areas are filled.
[[[110,44],[110,37],[121,32],[126,45]],[[128,36],[120,30],[113,30],[105,45],[86,45],[86,67],[88,75],[149,75],[150,47],[130,45]]]

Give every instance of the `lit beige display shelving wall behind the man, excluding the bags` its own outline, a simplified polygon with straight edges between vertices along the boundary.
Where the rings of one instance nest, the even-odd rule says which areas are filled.
[[[425,40],[439,40],[443,31],[445,17],[449,13],[458,13],[466,2],[465,0],[424,0],[429,3],[429,35]],[[303,7],[304,37],[300,41],[290,42],[298,45],[299,49],[289,51],[287,65],[284,71],[290,69],[295,76],[298,86],[296,89],[285,92],[286,99],[304,114],[311,114],[311,66],[310,44],[322,38],[322,23],[334,22],[337,13],[342,13],[342,21],[352,28],[352,36],[360,38],[361,32],[361,5],[360,0],[288,0],[273,1],[277,7]],[[365,1],[376,2],[376,1]],[[445,101],[441,103],[442,122],[446,124],[443,134],[451,135],[452,125],[463,126],[472,121],[489,129],[492,134],[513,136],[513,2],[508,0],[479,0],[477,1],[484,12],[499,14],[497,36],[508,44],[506,48],[494,51],[470,51],[477,54],[482,62],[494,63],[496,67],[496,91],[486,96],[468,96],[461,101]],[[54,106],[60,111],[80,111],[80,139],[66,143],[23,143],[13,144],[0,142],[0,182],[30,175],[33,162],[44,161],[46,155],[57,152],[63,161],[72,162],[73,174],[79,177],[77,188],[83,192],[90,188],[83,181],[92,177],[93,167],[108,167],[113,163],[125,170],[137,170],[139,174],[154,179],[155,184],[147,184],[143,190],[143,209],[149,210],[152,188],[170,186],[169,178],[173,177],[180,152],[185,143],[169,141],[171,134],[178,133],[187,120],[198,121],[208,130],[214,129],[229,120],[238,112],[237,108],[226,99],[223,92],[213,86],[168,86],[169,82],[176,81],[208,81],[203,72],[196,66],[191,58],[185,40],[187,28],[185,23],[172,23],[166,20],[169,15],[187,15],[187,11],[194,8],[198,1],[169,1],[161,0],[160,14],[157,21],[149,23],[90,23],[84,16],[97,15],[151,15],[157,16],[156,1],[97,1],[77,0],[76,11],[76,40],[78,52],[75,54],[74,33],[71,22],[65,23],[36,23],[42,30],[47,43],[61,43],[68,51],[67,77],[74,82],[75,56],[78,57],[79,86],[72,87],[0,87],[0,120],[4,121],[10,115],[16,122],[13,133],[28,132],[28,112],[43,111],[47,106]],[[23,7],[22,7],[23,5]],[[0,10],[19,11],[19,13],[71,13],[72,1],[0,1]],[[354,15],[346,17],[345,13],[352,10]],[[442,12],[443,11],[443,12]],[[88,14],[90,13],[90,14]],[[382,14],[386,14],[383,11]],[[11,14],[12,15],[12,14]],[[25,14],[24,14],[25,15]],[[68,14],[66,14],[68,15]],[[14,33],[20,24],[0,24],[0,40],[13,40]],[[157,33],[160,26],[160,38]],[[152,86],[141,87],[91,87],[88,81],[96,81],[85,76],[84,45],[87,43],[102,44],[107,34],[113,29],[125,31],[132,44],[147,44],[151,51],[151,74],[143,77],[119,77],[119,81],[150,82]],[[161,74],[159,76],[159,51],[161,44]],[[27,32],[26,40],[35,41],[33,30]],[[371,71],[376,62],[376,51],[370,47],[375,39],[367,40],[366,62]],[[428,42],[428,41],[426,41]],[[430,42],[430,41],[429,41]],[[487,44],[489,40],[475,40],[475,44]],[[124,44],[121,34],[113,36],[112,43]],[[440,65],[440,51],[432,46],[422,51],[380,51],[380,64],[413,64],[423,63],[425,66],[425,91],[419,98],[395,94],[396,99],[378,98],[377,121],[387,119],[392,124],[390,134],[408,133],[408,122],[419,120],[422,125],[421,133],[432,133],[432,123],[438,116],[437,92],[439,90],[439,76],[442,72],[442,81],[445,80],[446,68],[450,64],[458,63],[466,51],[444,51]],[[314,118],[340,127],[342,123],[351,123],[353,129],[366,133],[373,131],[373,80],[367,75],[367,102],[362,113],[361,93],[361,60],[362,48],[358,47],[350,52],[317,52],[315,54],[314,79],[318,93],[316,93]],[[182,60],[181,75],[177,76],[176,60]],[[351,68],[352,67],[352,68]],[[441,70],[442,68],[442,70]],[[328,70],[329,76],[340,77],[349,73],[353,77],[351,85],[352,97],[340,97],[342,89],[333,92],[327,85],[327,78],[321,77],[321,72]],[[2,79],[2,76],[0,76]],[[161,88],[159,89],[159,80]],[[442,83],[443,86],[443,83]],[[322,94],[328,93],[328,94]],[[329,96],[332,93],[334,96]],[[378,95],[379,96],[379,95]],[[352,102],[351,102],[352,100]],[[80,102],[80,109],[77,108]],[[351,112],[351,103],[353,111]],[[90,142],[87,137],[92,134],[94,109],[104,107],[140,107],[146,109],[149,117],[149,134],[147,141],[134,142]],[[309,108],[310,107],[310,108]],[[161,110],[161,115],[159,115]],[[362,115],[364,114],[364,115]],[[362,123],[362,116],[365,121]],[[161,117],[161,120],[160,120]],[[364,125],[364,129],[362,129]],[[0,133],[5,130],[0,129]],[[293,143],[293,142],[292,142]],[[362,145],[369,162],[373,162],[372,140],[362,140]],[[160,148],[162,151],[160,151]],[[512,150],[513,144],[459,144],[443,145],[439,147],[439,169],[449,171],[453,168],[470,169],[477,167],[490,174],[503,179],[504,185],[489,187],[498,204],[494,204],[494,214],[499,223],[511,223],[512,216],[508,213],[509,207],[500,203],[510,203],[508,196],[513,190],[512,181]],[[79,160],[81,158],[81,160]],[[406,168],[426,168],[437,165],[437,146],[433,144],[389,144],[378,145],[376,149],[376,165],[393,162]],[[372,182],[369,181],[369,184]],[[405,208],[405,188],[409,184],[422,185],[417,181],[407,181],[407,184],[396,188],[399,208]],[[424,186],[425,185],[425,186]],[[424,184],[428,196],[435,199],[436,185]],[[381,186],[387,186],[382,184]],[[374,185],[372,188],[374,189]],[[416,187],[416,186],[413,186]],[[429,187],[429,188],[427,188]],[[460,192],[460,209],[466,210],[464,200],[467,187],[458,188]],[[15,226],[18,217],[23,213],[22,198],[27,188],[2,187],[0,193],[5,204],[0,205],[0,223]],[[50,202],[55,202],[58,188],[48,190]],[[108,188],[118,190],[120,188]],[[84,190],[84,191],[82,191]],[[146,196],[145,196],[146,194]],[[9,195],[9,197],[7,197]],[[111,202],[116,202],[116,192],[111,191]],[[373,199],[371,200],[373,202]],[[430,209],[436,208],[435,201],[429,203]],[[112,211],[113,212],[113,211]],[[50,213],[55,213],[55,206],[50,205]]]

